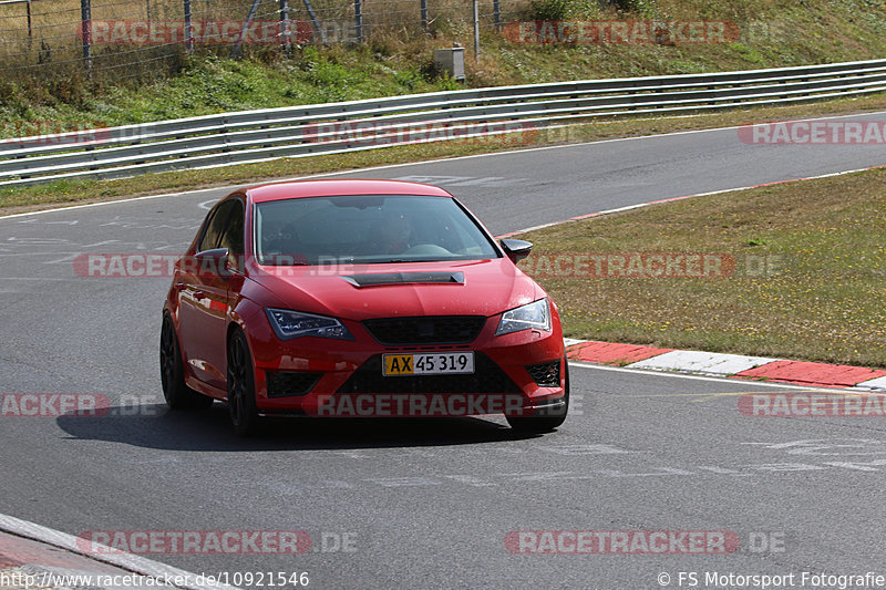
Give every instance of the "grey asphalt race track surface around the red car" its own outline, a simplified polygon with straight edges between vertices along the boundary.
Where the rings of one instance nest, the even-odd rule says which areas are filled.
[[[351,176],[440,184],[501,234],[883,164],[882,147],[751,146],[719,130]],[[166,413],[156,344],[168,280],[78,277],[72,261],[179,252],[224,193],[0,219],[0,390],[100,393],[119,408],[0,418],[0,513],[72,535],[305,530],[315,545],[302,556],[146,557],[197,573],[308,571],[311,588],[642,589],[659,588],[661,572],[667,587],[690,587],[680,571],[697,572],[697,588],[713,587],[704,572],[793,572],[794,587],[813,588],[802,572],[886,575],[882,421],[738,411],[740,393],[787,387],[574,364],[576,407],[542,437],[515,436],[497,418],[332,420],[274,423],[243,441],[220,404]],[[728,531],[740,546],[720,556],[511,553],[506,536],[525,530]],[[343,538],[352,551],[336,550]]]

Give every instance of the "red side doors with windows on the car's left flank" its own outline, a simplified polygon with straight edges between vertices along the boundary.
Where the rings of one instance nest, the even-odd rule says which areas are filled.
[[[183,273],[179,290],[179,337],[185,362],[194,376],[223,391],[230,307],[228,283],[230,272],[238,272],[237,265],[243,263],[243,199],[231,197],[218,204],[197,244],[195,260]],[[212,256],[218,248],[229,249],[230,263]]]

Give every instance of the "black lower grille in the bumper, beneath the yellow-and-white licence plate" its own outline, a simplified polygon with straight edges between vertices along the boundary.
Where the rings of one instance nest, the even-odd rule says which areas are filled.
[[[337,393],[522,393],[492,359],[474,353],[474,373],[466,375],[384,376],[381,354],[370,358]]]

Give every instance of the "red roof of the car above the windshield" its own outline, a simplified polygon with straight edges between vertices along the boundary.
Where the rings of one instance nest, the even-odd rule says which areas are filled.
[[[334,197],[357,195],[419,195],[450,197],[442,188],[405,180],[341,178],[324,180],[292,180],[253,186],[246,189],[253,203],[266,203],[302,197]]]

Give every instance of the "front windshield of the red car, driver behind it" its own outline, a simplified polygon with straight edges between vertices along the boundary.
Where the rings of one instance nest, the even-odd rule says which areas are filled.
[[[416,262],[498,258],[490,238],[451,198],[334,196],[259,203],[260,265]]]

